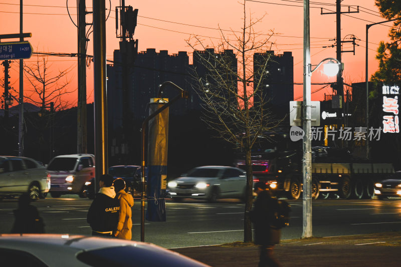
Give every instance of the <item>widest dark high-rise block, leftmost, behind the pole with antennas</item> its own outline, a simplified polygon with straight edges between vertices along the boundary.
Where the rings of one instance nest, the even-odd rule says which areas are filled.
[[[121,125],[122,120],[122,66],[121,53],[114,51],[114,65],[107,66],[107,97],[109,103],[110,124]],[[137,54],[134,65],[128,72],[128,106],[133,119],[142,120],[149,114],[150,98],[157,97],[160,85],[170,81],[184,90],[188,90],[189,58],[186,52],[168,55],[167,50],[159,53],[155,49],[147,49]],[[173,98],[179,92],[166,86],[163,97]],[[120,103],[120,104],[119,104]],[[170,107],[170,114],[182,114],[187,109],[185,100],[179,100]],[[115,128],[115,127],[113,127]]]

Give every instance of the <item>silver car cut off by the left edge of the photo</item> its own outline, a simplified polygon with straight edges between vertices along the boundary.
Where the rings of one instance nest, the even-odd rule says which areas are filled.
[[[44,166],[32,158],[0,156],[0,198],[29,193],[32,200],[45,198],[50,176]]]

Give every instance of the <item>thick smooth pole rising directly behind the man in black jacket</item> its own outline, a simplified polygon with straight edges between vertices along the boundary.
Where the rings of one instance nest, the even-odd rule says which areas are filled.
[[[93,0],[93,62],[95,100],[95,191],[98,179],[107,173],[107,92],[106,92],[106,4]]]

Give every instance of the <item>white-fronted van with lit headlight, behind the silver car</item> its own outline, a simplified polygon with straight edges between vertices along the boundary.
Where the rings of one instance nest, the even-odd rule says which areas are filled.
[[[72,154],[54,157],[47,171],[50,174],[52,197],[63,194],[78,194],[85,197],[85,183],[95,177],[95,156],[92,154]]]

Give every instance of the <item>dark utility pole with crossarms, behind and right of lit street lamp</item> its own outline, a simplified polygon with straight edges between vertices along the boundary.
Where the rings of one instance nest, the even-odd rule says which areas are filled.
[[[321,15],[327,15],[327,14],[335,14],[336,15],[336,59],[338,62],[341,62],[341,53],[344,52],[353,52],[355,55],[355,39],[353,41],[341,41],[341,14],[349,14],[349,13],[359,13],[359,6],[357,7],[357,11],[350,11],[350,7],[348,7],[348,11],[346,12],[341,12],[341,1],[342,0],[336,0],[336,12],[329,12],[329,13],[323,13],[323,9],[321,9]],[[349,43],[353,42],[354,49],[353,51],[342,51],[341,50],[341,44],[342,43]],[[340,112],[340,121],[341,124],[344,123],[345,117],[347,114],[345,114],[345,105],[344,105],[344,84],[342,80],[342,70],[340,70],[337,73],[337,87],[336,87],[337,95],[341,98],[340,99],[340,105],[341,105],[341,112]],[[348,101],[348,100],[347,100]]]

